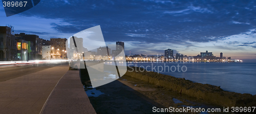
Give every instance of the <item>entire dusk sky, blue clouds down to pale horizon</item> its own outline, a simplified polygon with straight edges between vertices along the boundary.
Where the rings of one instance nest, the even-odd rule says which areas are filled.
[[[2,5],[2,4],[1,4]],[[107,44],[125,42],[125,54],[197,56],[212,52],[256,60],[254,1],[76,1],[41,0],[9,17],[0,7],[0,26],[40,38],[69,38],[100,25]]]

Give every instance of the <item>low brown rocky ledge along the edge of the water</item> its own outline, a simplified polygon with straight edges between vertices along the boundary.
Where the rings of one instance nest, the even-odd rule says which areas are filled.
[[[224,107],[256,106],[256,95],[227,92],[221,89],[220,86],[196,83],[184,78],[176,78],[156,72],[135,72],[135,69],[139,71],[138,67],[133,67],[133,69],[127,67],[125,76],[168,88],[173,92],[179,93],[181,96],[194,97],[198,100]],[[141,69],[140,71],[143,70]]]

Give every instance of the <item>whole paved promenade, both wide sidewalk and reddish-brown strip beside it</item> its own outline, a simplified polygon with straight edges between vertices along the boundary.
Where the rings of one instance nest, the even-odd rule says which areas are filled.
[[[86,95],[79,76],[73,73],[78,71],[68,70],[69,65],[62,64],[0,82],[0,113],[60,113],[57,111],[65,109],[74,111],[72,106],[80,108],[82,105],[76,106],[77,102],[72,102],[75,101],[73,98],[86,101],[88,103],[84,104],[90,105],[87,96],[78,96]],[[70,98],[71,94],[75,94],[75,97]],[[59,104],[51,104],[56,102]],[[69,104],[69,107],[63,107],[61,103]],[[53,105],[55,110],[52,109]],[[92,113],[95,112],[92,106],[87,108],[91,108]]]

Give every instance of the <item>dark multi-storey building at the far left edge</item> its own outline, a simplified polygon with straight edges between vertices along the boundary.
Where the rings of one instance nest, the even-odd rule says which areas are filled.
[[[0,26],[0,61],[17,60],[16,44],[13,27]]]

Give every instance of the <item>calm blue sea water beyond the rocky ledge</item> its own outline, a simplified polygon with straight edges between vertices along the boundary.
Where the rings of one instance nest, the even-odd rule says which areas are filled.
[[[122,65],[123,63],[118,64]],[[180,72],[178,72],[178,64]],[[185,78],[186,80],[191,80],[193,82],[221,86],[223,90],[229,92],[256,94],[256,63],[126,62],[126,65],[142,68],[146,68],[147,66],[147,71],[159,72],[160,74],[177,78]],[[170,71],[170,67],[172,67],[172,71]],[[181,71],[181,67],[183,71]]]

